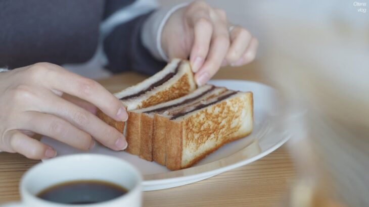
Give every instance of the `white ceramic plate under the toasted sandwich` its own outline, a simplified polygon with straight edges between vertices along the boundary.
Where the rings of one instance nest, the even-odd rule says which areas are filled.
[[[283,114],[279,111],[281,101],[276,90],[261,83],[241,80],[213,80],[210,83],[233,90],[253,92],[255,124],[251,135],[224,145],[191,168],[178,171],[169,171],[155,162],[142,160],[124,151],[113,151],[98,144],[88,152],[108,154],[128,161],[143,174],[144,190],[148,191],[186,185],[249,164],[274,151],[290,138],[290,133],[280,124]],[[49,137],[43,137],[41,141],[53,146],[58,151],[58,156],[85,153]],[[258,143],[260,150],[256,153],[250,152],[250,143]]]

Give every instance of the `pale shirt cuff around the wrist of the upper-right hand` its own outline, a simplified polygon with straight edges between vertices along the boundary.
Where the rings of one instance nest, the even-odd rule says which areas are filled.
[[[187,7],[188,5],[189,3],[182,3],[174,7],[161,8],[152,14],[144,23],[141,32],[141,40],[144,46],[157,60],[169,61],[161,47],[161,34],[165,23],[175,11]]]

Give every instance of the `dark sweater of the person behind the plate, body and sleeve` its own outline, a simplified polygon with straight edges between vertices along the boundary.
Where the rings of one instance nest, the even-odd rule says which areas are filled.
[[[0,67],[86,62],[96,51],[101,22],[133,2],[0,0]],[[104,39],[108,70],[153,74],[164,66],[141,42],[142,25],[150,14],[115,27]]]

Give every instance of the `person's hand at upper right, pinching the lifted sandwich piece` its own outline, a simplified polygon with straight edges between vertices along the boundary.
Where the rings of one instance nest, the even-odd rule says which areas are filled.
[[[169,59],[188,59],[198,85],[220,66],[241,66],[254,60],[258,40],[240,26],[229,25],[223,10],[196,1],[178,9],[166,22],[162,48]]]

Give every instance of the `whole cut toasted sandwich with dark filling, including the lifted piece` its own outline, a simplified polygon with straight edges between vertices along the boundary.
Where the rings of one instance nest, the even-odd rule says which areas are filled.
[[[175,59],[147,80],[114,94],[127,122],[98,116],[126,136],[127,152],[170,170],[188,168],[253,129],[253,94],[197,88],[188,61]]]

